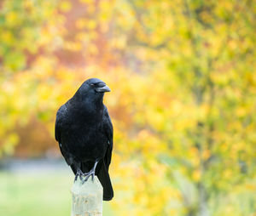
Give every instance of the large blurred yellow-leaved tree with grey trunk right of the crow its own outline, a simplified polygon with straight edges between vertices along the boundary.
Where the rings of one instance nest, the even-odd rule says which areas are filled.
[[[158,145],[154,162],[170,166],[166,173],[179,189],[186,215],[214,214],[208,203],[215,199],[217,205],[219,194],[255,173],[252,5],[230,1],[129,1],[125,11],[131,9],[131,16],[135,16],[130,28],[122,20],[129,16],[120,12],[113,16],[122,20],[117,29],[123,35],[117,36],[125,38],[125,53],[135,56],[133,61],[152,63],[148,70],[153,71],[148,81],[150,89],[137,90],[137,99],[132,99],[134,118],[130,121],[142,128],[137,130],[138,143],[133,150],[141,154],[140,144]],[[139,65],[137,71],[143,73]],[[142,134],[143,140],[139,139]],[[158,142],[153,144],[152,137]],[[150,162],[149,146],[142,154],[144,163]],[[152,171],[149,176],[155,175]],[[149,188],[154,190],[154,183]],[[147,197],[152,196],[152,190],[147,190]],[[167,199],[161,212],[153,210],[152,214],[163,215],[164,207],[172,202],[172,198]],[[150,199],[139,203],[147,209],[154,207]]]

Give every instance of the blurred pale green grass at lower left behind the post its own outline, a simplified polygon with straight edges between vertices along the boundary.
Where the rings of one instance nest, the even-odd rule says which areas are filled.
[[[73,175],[0,172],[0,215],[70,216]],[[113,215],[108,202],[103,215]]]

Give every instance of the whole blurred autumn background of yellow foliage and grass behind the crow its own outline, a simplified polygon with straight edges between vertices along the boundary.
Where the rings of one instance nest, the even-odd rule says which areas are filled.
[[[0,215],[70,215],[55,113],[113,120],[104,215],[256,215],[256,1],[0,1]]]

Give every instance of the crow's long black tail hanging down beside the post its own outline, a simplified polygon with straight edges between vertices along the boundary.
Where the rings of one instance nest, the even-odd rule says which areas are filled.
[[[98,168],[98,170],[97,170]],[[108,174],[108,170],[106,168],[105,162],[102,160],[96,167],[96,174],[98,179],[100,180],[103,187],[103,200],[110,201],[113,198],[113,187],[111,184],[111,180]]]

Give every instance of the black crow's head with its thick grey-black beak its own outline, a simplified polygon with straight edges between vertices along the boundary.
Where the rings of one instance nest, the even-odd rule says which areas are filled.
[[[76,94],[82,98],[102,99],[105,92],[110,92],[110,88],[105,82],[98,78],[86,80]]]

